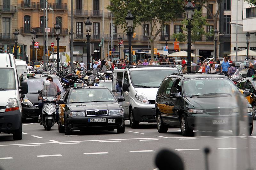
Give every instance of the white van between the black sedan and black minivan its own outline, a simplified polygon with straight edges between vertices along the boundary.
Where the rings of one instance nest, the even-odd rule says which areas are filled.
[[[125,69],[114,69],[112,93],[124,108],[124,117],[130,120],[132,128],[140,122],[156,122],[156,93],[164,78],[180,71],[172,65],[129,66]],[[118,84],[122,81],[122,87]],[[121,90],[120,90],[121,87]]]

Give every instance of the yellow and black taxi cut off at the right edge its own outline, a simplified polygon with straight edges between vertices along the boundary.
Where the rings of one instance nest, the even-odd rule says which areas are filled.
[[[238,87],[239,91],[243,94],[244,91],[250,92],[250,96],[247,96],[246,99],[252,105],[252,115],[253,119],[256,120],[256,75],[252,75],[252,77],[247,77],[240,80],[236,86]]]

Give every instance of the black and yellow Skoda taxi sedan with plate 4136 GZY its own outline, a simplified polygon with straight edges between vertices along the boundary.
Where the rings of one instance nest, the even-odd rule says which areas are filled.
[[[124,133],[124,110],[115,96],[106,87],[85,87],[84,83],[75,83],[67,90],[63,99],[57,103],[59,108],[59,132],[65,135],[74,130],[110,130]]]

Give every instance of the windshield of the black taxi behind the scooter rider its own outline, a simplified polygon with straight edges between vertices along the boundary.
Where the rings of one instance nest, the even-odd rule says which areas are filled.
[[[24,81],[26,81],[28,83],[28,93],[37,93],[38,90],[42,90],[43,89],[43,81],[46,80],[46,78],[29,78],[29,79],[25,79]],[[57,86],[59,87],[61,92],[65,92],[65,90],[63,89],[61,82],[59,79],[57,78],[53,78],[53,82],[57,84]]]

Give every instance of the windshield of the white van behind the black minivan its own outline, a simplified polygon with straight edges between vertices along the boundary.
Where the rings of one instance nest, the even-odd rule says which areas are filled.
[[[172,73],[178,73],[176,69],[133,70],[130,73],[132,85],[136,88],[159,88],[164,78]]]

